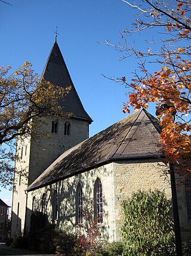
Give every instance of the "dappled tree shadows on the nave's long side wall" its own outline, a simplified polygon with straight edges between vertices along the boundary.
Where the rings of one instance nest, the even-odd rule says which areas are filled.
[[[103,169],[104,173],[106,171]],[[97,177],[91,173],[90,176],[93,179],[93,183],[96,182]],[[85,182],[86,181],[86,182]],[[76,191],[78,191],[78,185],[82,186],[83,191],[83,213],[90,213],[92,215],[92,221],[96,218],[96,207],[95,207],[95,198],[92,198],[95,195],[94,186],[91,187],[90,183],[87,183],[87,180],[81,176],[81,174],[71,180],[60,180],[55,185],[47,186],[47,190],[41,197],[33,197],[33,206],[32,209],[35,210],[32,212],[30,209],[27,209],[27,216],[31,216],[30,228],[27,231],[36,230],[43,228],[48,224],[55,224],[57,227],[79,227],[78,225],[78,208],[76,204],[78,199],[76,197]],[[35,201],[34,201],[35,199]],[[90,211],[90,201],[93,201],[93,208]],[[35,205],[34,205],[35,204]],[[105,239],[109,238],[108,228],[108,210],[107,202],[103,195],[103,214],[104,214],[104,223],[100,225],[100,233],[104,236]],[[89,211],[89,212],[88,212]],[[87,220],[85,220],[85,215],[83,216],[83,227],[87,226]]]

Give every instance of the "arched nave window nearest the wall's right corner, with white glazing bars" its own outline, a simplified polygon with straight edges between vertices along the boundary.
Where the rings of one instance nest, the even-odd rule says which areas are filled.
[[[102,194],[102,184],[100,179],[96,180],[94,186],[94,202],[96,206],[96,219],[97,223],[103,223],[103,194]]]

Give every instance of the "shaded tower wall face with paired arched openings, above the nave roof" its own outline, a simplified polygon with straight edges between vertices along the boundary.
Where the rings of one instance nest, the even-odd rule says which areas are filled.
[[[33,141],[30,153],[29,185],[64,151],[88,138],[88,122],[78,119],[58,120],[57,133],[51,132],[51,117],[43,124],[43,131],[49,137],[42,137],[37,143]],[[70,123],[69,135],[64,135],[64,124]]]

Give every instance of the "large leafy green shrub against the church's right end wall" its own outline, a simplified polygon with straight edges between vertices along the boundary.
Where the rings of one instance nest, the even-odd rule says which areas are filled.
[[[174,255],[170,201],[160,191],[139,191],[122,202],[125,255]]]

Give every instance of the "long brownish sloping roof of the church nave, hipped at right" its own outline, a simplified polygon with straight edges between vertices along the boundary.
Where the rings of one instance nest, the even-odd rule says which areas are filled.
[[[135,112],[64,152],[27,191],[90,170],[104,162],[162,156],[159,152],[160,132],[158,119],[144,109]]]

